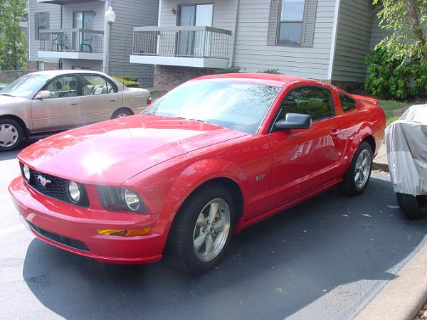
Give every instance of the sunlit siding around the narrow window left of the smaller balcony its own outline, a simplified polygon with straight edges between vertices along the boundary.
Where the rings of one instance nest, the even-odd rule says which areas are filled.
[[[35,40],[34,33],[34,14],[36,12],[49,13],[48,28],[60,28],[60,6],[56,4],[38,4],[37,0],[29,0],[28,2],[29,20],[28,20],[28,45],[29,58],[28,60],[45,61],[57,63],[58,59],[38,58],[37,51],[40,46],[40,41]]]

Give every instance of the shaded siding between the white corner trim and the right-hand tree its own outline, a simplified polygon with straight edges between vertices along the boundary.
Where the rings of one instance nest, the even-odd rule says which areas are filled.
[[[373,7],[371,0],[341,0],[332,80],[364,82]]]

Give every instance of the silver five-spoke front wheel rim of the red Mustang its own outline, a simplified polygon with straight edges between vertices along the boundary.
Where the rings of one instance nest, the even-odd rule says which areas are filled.
[[[226,244],[230,230],[230,208],[226,201],[216,198],[204,206],[194,227],[193,242],[196,257],[211,261]]]

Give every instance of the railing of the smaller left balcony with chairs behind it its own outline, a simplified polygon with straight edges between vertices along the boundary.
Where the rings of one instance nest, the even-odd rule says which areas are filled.
[[[102,53],[104,31],[50,29],[40,31],[40,51]]]

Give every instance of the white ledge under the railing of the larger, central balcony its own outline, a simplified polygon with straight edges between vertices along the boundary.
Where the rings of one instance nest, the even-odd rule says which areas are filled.
[[[154,55],[131,55],[130,63],[144,63],[147,65],[176,65],[195,68],[227,68],[227,59],[216,58],[185,58],[185,57],[157,57]]]

